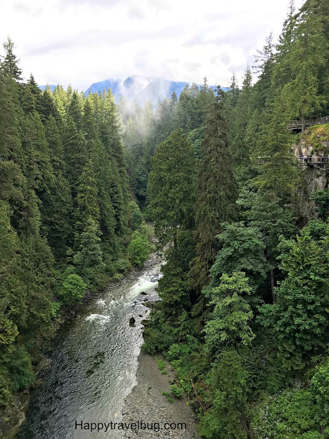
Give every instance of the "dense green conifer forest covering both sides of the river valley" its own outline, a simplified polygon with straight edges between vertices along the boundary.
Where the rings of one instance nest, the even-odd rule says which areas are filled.
[[[158,250],[142,350],[175,371],[199,437],[329,438],[328,1],[291,3],[255,53],[227,91],[204,78],[141,105],[41,90],[5,41],[3,410],[67,311]]]

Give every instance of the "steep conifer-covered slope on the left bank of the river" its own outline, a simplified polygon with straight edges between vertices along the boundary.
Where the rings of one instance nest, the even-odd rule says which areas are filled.
[[[4,49],[0,405],[34,381],[32,366],[60,307],[120,278],[148,254],[111,91],[40,91],[33,76],[23,82],[10,40]]]

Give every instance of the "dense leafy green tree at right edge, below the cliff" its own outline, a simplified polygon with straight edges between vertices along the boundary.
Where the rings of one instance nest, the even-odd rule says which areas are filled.
[[[287,368],[304,368],[326,343],[328,328],[328,262],[321,248],[302,229],[297,240],[280,244],[281,268],[287,278],[277,289],[277,302],[263,309],[264,324],[278,337],[279,355]],[[269,312],[270,311],[270,312]]]

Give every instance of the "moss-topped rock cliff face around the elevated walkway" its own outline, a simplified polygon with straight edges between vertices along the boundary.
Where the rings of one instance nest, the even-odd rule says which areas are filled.
[[[329,155],[329,125],[313,126],[306,130],[304,137],[292,146],[295,156],[328,156]],[[329,187],[329,163],[324,167],[303,166],[300,167],[302,185],[297,191],[298,204],[302,222],[315,215],[315,204],[309,199],[309,195],[315,191],[323,191]]]

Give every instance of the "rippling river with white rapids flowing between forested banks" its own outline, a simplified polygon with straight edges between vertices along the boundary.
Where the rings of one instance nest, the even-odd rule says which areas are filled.
[[[42,373],[45,383],[33,392],[17,439],[123,437],[122,431],[75,429],[75,421],[122,419],[125,397],[136,385],[141,321],[149,314],[143,302],[158,300],[160,267],[159,259],[150,258],[137,281],[111,288],[84,308],[73,324],[60,329],[51,366]]]

